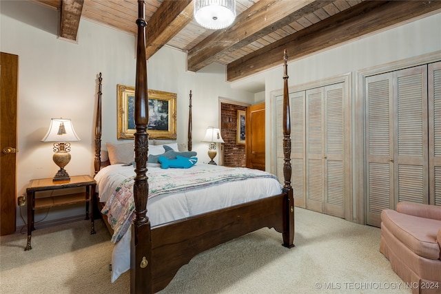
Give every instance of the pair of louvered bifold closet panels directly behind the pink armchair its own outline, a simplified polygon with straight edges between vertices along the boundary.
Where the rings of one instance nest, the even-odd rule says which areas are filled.
[[[399,201],[429,202],[427,66],[369,76],[366,97],[367,224]]]

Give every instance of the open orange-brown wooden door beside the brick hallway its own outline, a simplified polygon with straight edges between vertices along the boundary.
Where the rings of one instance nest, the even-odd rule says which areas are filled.
[[[247,167],[265,171],[265,103],[247,107],[245,128]]]

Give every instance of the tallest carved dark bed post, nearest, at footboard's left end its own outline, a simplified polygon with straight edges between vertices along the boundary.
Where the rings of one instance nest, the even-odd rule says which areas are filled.
[[[145,57],[145,1],[138,0],[138,42],[136,48],[136,81],[134,122],[134,154],[136,176],[134,178],[135,218],[132,223],[132,246],[130,250],[130,292],[152,293],[152,240],[150,220],[147,217],[147,151],[148,97],[147,59]]]

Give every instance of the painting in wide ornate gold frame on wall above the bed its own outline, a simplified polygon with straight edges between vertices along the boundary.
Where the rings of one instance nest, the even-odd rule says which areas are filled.
[[[133,139],[135,88],[116,85],[119,139]],[[149,124],[147,132],[151,139],[176,139],[176,93],[148,90]]]

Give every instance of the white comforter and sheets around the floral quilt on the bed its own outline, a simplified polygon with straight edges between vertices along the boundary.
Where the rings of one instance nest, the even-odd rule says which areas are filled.
[[[217,165],[196,164],[191,169],[228,169]],[[160,167],[148,167],[150,172],[160,170],[167,172],[167,169]],[[147,171],[147,176],[149,171]],[[185,169],[181,169],[185,171]],[[109,200],[116,187],[130,176],[134,176],[132,166],[110,165],[99,171],[95,176],[97,191],[101,202]],[[179,193],[168,193],[149,198],[147,201],[147,216],[150,224],[155,227],[158,224],[171,222],[196,216],[208,211],[230,207],[252,200],[258,200],[268,196],[278,195],[282,192],[282,187],[278,180],[274,178],[250,178],[232,182],[223,182],[209,187],[202,187],[187,190]],[[131,231],[127,231],[123,238],[115,245],[112,253],[112,282],[121,273],[130,269],[130,239]]]

